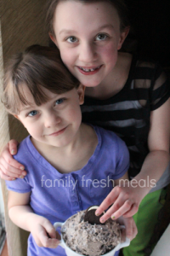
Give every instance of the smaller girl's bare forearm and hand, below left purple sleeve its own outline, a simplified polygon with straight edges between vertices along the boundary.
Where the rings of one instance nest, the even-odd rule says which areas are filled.
[[[25,194],[8,191],[8,215],[23,230],[31,232],[39,247],[55,248],[59,245],[54,226],[47,218],[35,214],[31,207],[30,192]]]

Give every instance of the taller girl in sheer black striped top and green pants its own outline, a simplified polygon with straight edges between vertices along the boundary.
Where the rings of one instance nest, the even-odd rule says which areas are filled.
[[[131,183],[114,188],[99,212],[114,203],[105,221],[132,216],[139,209],[134,217],[139,235],[124,254],[145,255],[156,244],[151,241],[162,207],[159,198],[170,182],[167,78],[156,62],[118,52],[129,30],[122,0],[51,0],[47,21],[65,66],[87,87],[83,120],[116,131],[127,143]],[[24,168],[9,156],[8,151],[16,153],[16,144],[12,141],[3,150],[4,179],[20,177]]]

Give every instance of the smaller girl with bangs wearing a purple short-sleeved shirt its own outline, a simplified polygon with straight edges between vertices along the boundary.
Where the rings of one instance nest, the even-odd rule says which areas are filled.
[[[26,166],[26,177],[6,182],[8,213],[31,232],[29,256],[65,255],[54,222],[99,205],[113,180],[127,179],[125,143],[112,131],[81,123],[83,99],[84,86],[57,49],[33,45],[11,59],[3,103],[30,136],[14,157]]]

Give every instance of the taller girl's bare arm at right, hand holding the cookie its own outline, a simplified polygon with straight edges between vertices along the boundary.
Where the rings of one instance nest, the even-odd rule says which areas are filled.
[[[120,216],[131,217],[139,209],[139,204],[152,189],[153,182],[156,183],[169,162],[169,136],[170,134],[170,99],[160,108],[151,112],[150,132],[148,147],[150,153],[146,156],[139,174],[129,183],[116,186],[101,203],[96,214],[101,214],[105,209],[113,206],[100,219],[105,222],[108,218],[119,218]],[[148,181],[150,186],[148,185]],[[144,186],[144,183],[147,184]],[[103,221],[102,221],[103,219]]]

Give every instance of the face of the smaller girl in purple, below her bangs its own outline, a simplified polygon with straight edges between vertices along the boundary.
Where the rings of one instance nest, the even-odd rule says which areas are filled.
[[[27,87],[23,90],[31,103],[22,105],[15,117],[20,119],[33,140],[54,147],[74,143],[82,121],[80,104],[83,103],[84,87],[60,95],[42,88],[49,100],[41,106],[36,105]]]

